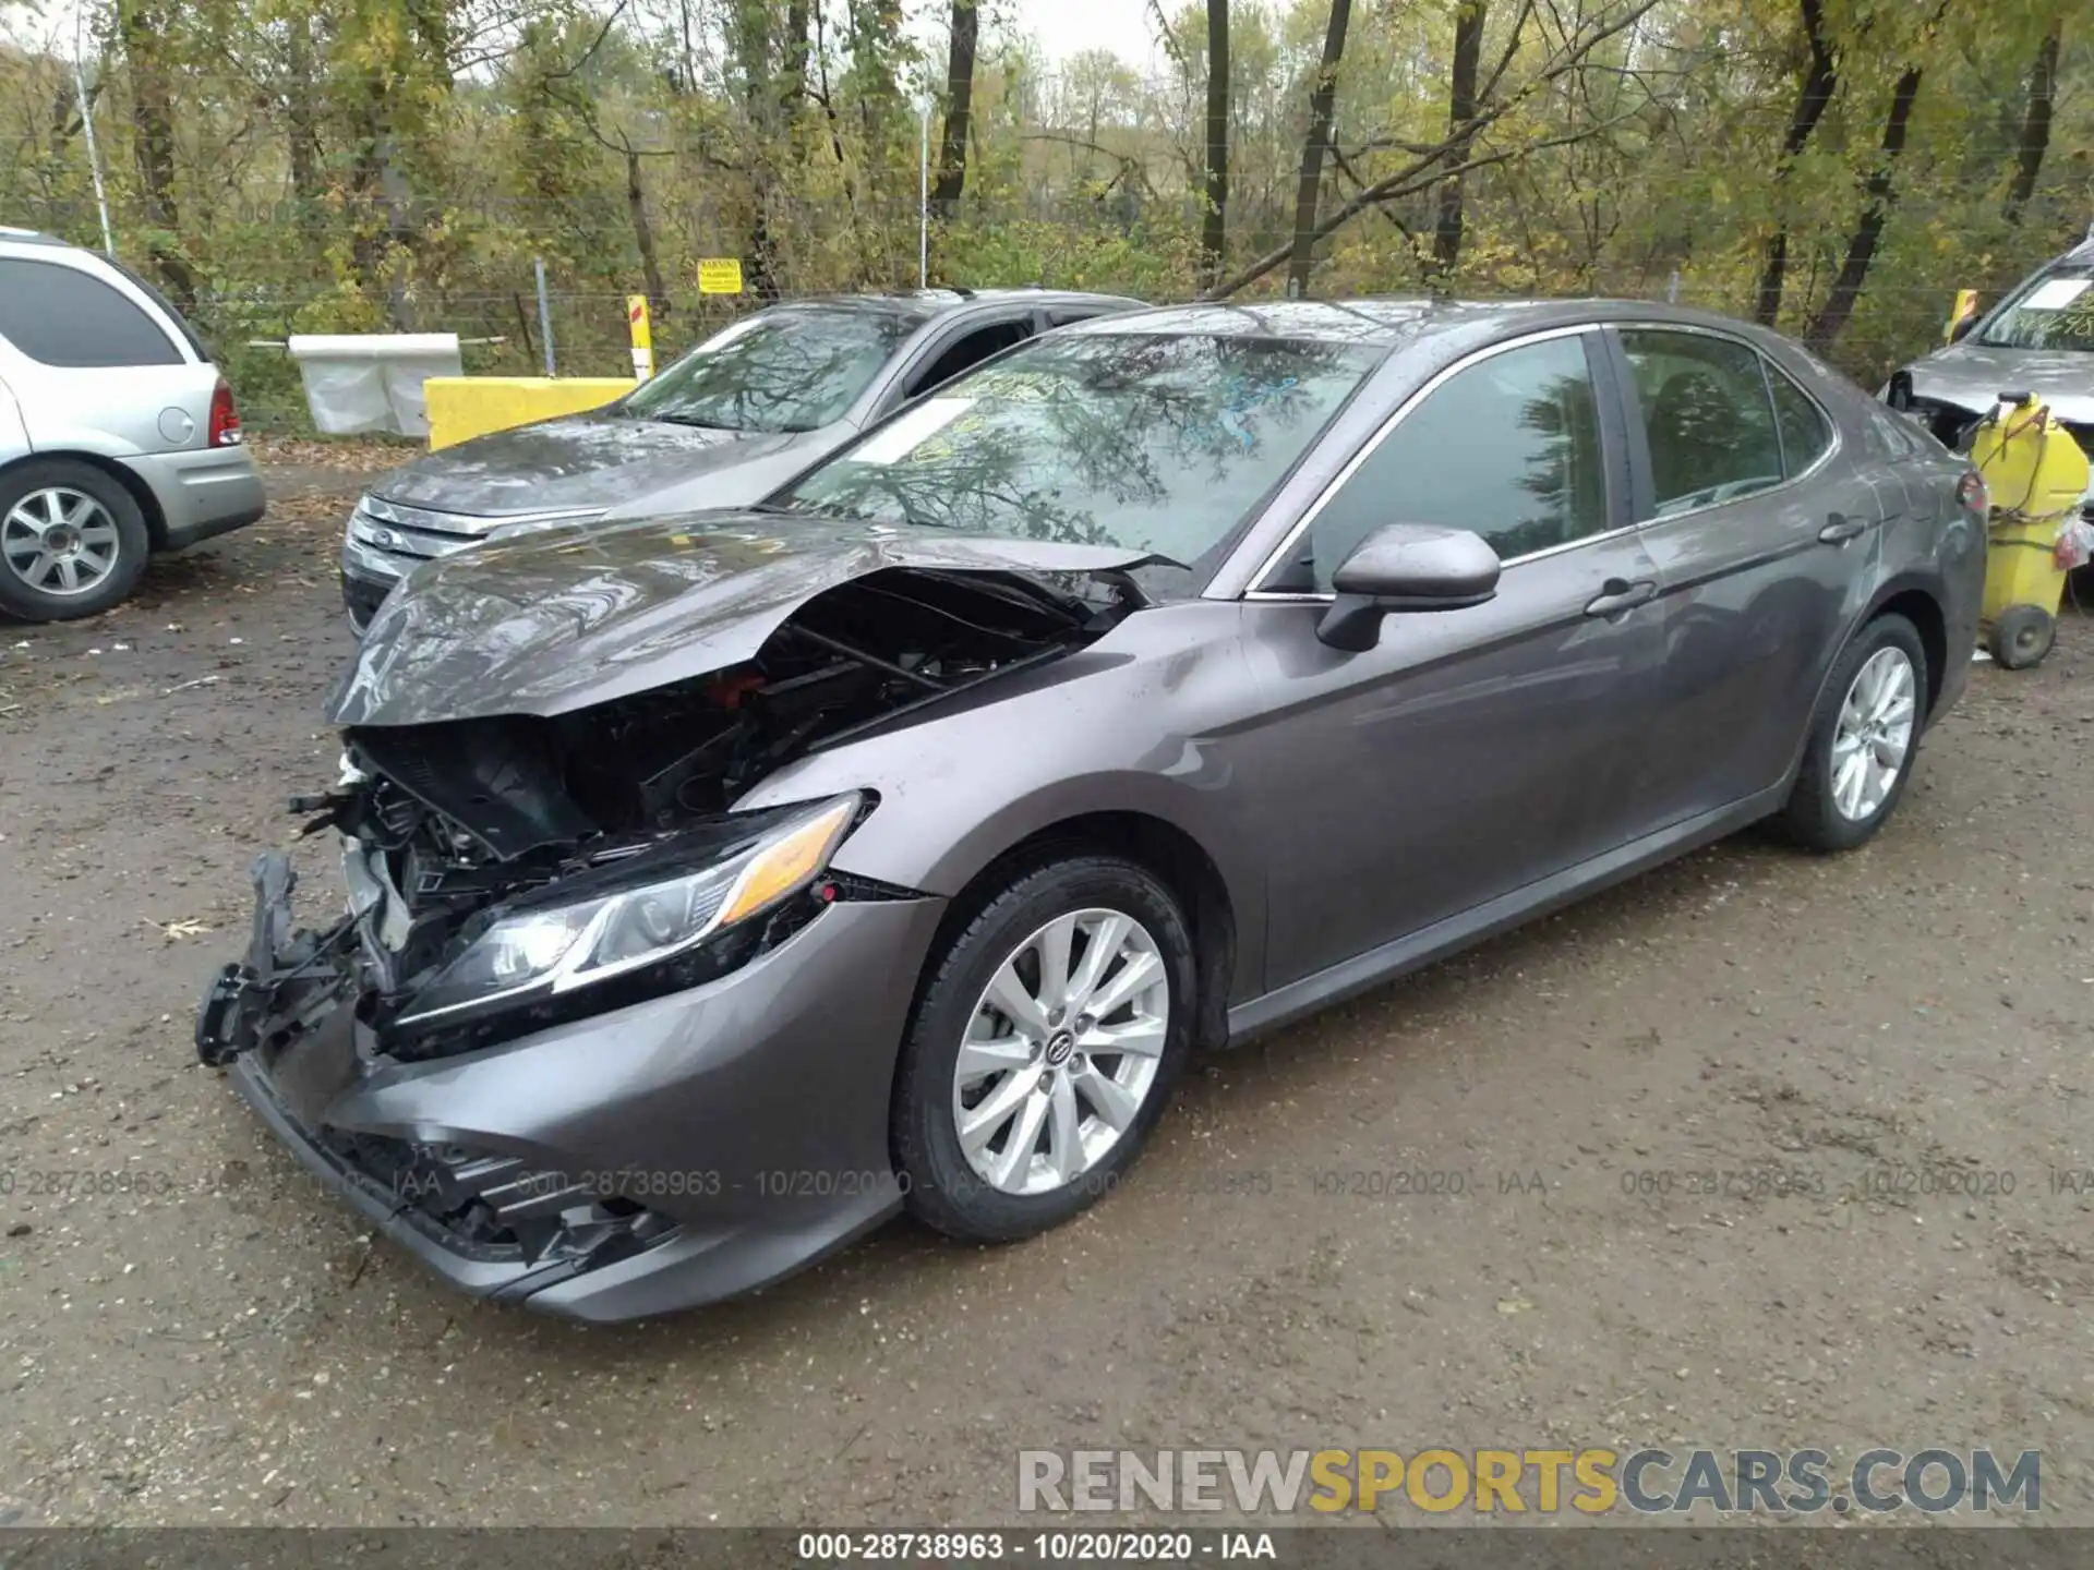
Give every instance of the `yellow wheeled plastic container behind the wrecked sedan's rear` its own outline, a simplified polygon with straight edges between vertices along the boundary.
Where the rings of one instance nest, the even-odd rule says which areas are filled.
[[[2035,394],[2002,394],[1973,440],[1991,496],[1985,551],[1985,647],[2008,670],[2050,653],[2067,559],[2060,532],[2088,492],[2088,456]]]

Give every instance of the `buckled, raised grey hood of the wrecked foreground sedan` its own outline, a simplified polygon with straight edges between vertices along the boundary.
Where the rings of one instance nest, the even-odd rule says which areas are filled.
[[[565,714],[750,659],[800,605],[888,567],[1114,571],[1143,551],[777,513],[492,540],[419,567],[329,699],[337,726]]]

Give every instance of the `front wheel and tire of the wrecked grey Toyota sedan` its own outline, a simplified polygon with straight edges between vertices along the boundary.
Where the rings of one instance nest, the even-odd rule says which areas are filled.
[[[894,1086],[909,1208],[978,1243],[1043,1233],[1141,1153],[1191,1053],[1191,932],[1145,867],[1081,854],[984,900],[932,957]]]

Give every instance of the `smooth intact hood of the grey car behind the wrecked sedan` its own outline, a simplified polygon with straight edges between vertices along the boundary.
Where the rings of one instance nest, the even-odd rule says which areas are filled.
[[[745,435],[618,414],[570,414],[423,454],[379,479],[371,494],[477,517],[614,507],[768,458],[802,440],[792,431]]]

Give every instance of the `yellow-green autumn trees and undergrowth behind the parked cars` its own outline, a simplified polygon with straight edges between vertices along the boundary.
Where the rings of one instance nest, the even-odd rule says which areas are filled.
[[[2004,287],[2094,216],[2094,27],[2069,0],[1939,15],[1822,0],[1839,86],[1786,161],[1809,63],[1801,0],[1658,0],[1554,71],[1566,27],[1633,2],[1491,0],[1457,291],[1746,314],[1784,237],[1780,324],[1803,331],[1876,203],[1887,220],[1836,339],[1874,377],[1937,341],[1956,287]],[[10,15],[0,222],[96,243],[69,29]],[[913,94],[942,84],[944,57],[898,0],[103,0],[82,15],[119,249],[172,287],[188,278],[258,425],[297,398],[283,356],[247,339],[450,329],[500,339],[471,350],[477,368],[534,368],[534,257],[572,373],[624,368],[624,295],[651,278],[662,354],[716,327],[733,304],[699,299],[704,255],[739,255],[783,293],[917,276]],[[1166,67],[1145,80],[1104,52],[1049,65],[1007,10],[982,8],[965,195],[932,234],[934,281],[1196,291],[1206,6],[1158,15]],[[1231,266],[1288,245],[1326,17],[1328,0],[1233,6]],[[2060,17],[2050,147],[2017,209],[2031,61]],[[1443,142],[1453,27],[1455,0],[1355,0],[1319,211]],[[1914,67],[1910,136],[1887,161],[1891,90]],[[1424,167],[1319,241],[1315,291],[1426,287],[1441,190]],[[1889,199],[1872,195],[1885,170]],[[1269,274],[1248,293],[1277,287]]]

